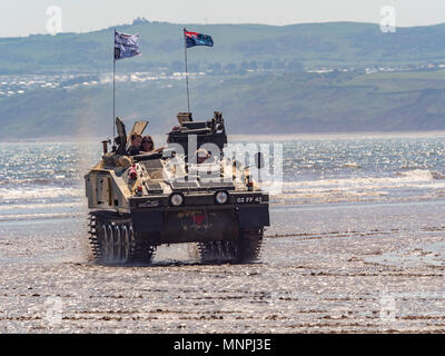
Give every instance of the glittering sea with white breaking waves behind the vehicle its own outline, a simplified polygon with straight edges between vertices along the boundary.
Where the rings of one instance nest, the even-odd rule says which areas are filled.
[[[283,185],[270,196],[271,209],[445,199],[445,134],[237,136],[234,142],[280,145]],[[83,176],[100,157],[99,140],[0,144],[0,224],[83,219]]]

